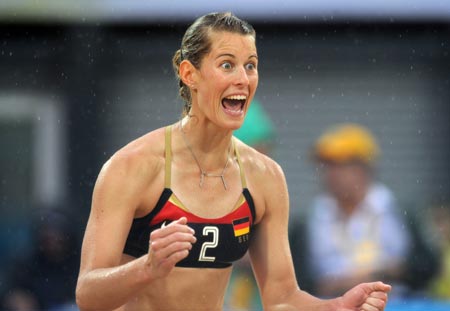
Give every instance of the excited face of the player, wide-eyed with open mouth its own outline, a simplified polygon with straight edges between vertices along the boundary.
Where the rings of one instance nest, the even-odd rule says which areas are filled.
[[[258,56],[250,35],[214,32],[211,51],[203,58],[195,81],[193,114],[220,127],[239,128],[258,86]]]

